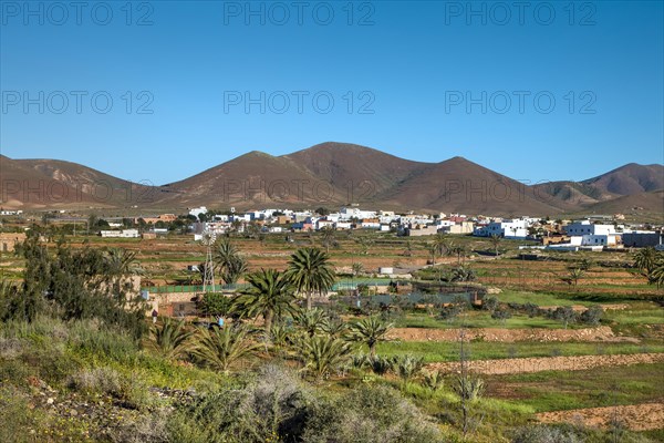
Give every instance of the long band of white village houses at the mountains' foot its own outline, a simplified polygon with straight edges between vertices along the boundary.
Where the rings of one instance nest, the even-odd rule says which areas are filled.
[[[189,210],[198,217],[207,208]],[[468,217],[463,214],[396,214],[391,210],[365,210],[343,207],[338,213],[324,216],[310,210],[261,209],[228,215],[214,215],[209,222],[193,224],[197,239],[204,231],[225,234],[236,229],[242,231],[248,224],[256,224],[266,233],[314,231],[321,229],[374,229],[393,231],[403,236],[427,236],[438,233],[474,235],[477,237],[501,237],[507,239],[539,239],[549,248],[593,249],[604,247],[664,248],[662,230],[635,230],[624,225],[585,220],[543,220],[537,217],[499,218]]]

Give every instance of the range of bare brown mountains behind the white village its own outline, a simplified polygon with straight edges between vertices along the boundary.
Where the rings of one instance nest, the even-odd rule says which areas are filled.
[[[344,143],[323,143],[283,156],[255,151],[159,187],[132,184],[83,165],[50,159],[0,156],[0,174],[4,186],[0,203],[23,208],[132,205],[169,210],[196,205],[239,209],[287,205],[334,208],[359,203],[403,210],[543,216],[609,210],[612,206],[595,205],[611,202],[616,202],[616,209],[622,208],[621,193],[644,194],[639,197],[643,205],[637,206],[657,212],[661,194],[653,190],[664,188],[662,165],[629,164],[579,183],[525,186],[463,157],[440,163],[413,162]],[[25,199],[11,188],[17,183],[27,183],[32,188],[40,181],[53,189],[68,187],[69,197],[60,202]],[[110,192],[111,196],[105,197]]]

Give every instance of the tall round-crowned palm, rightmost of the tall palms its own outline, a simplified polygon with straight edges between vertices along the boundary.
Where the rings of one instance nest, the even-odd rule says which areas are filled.
[[[307,309],[311,309],[313,292],[326,292],[334,285],[330,256],[318,248],[298,249],[291,256],[286,274],[298,292],[307,295]]]

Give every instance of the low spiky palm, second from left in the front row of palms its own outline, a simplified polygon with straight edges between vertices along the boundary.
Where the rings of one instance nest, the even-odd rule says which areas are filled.
[[[251,338],[246,326],[199,329],[194,354],[219,371],[228,369],[261,346]]]

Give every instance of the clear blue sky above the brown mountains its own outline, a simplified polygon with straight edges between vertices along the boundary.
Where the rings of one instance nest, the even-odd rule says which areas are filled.
[[[325,141],[531,181],[664,163],[661,1],[475,2],[477,14],[466,1],[354,2],[352,17],[347,2],[310,1],[301,17],[290,1],[253,16],[245,1],[136,2],[131,17],[124,1],[25,4],[1,2],[0,147],[14,158],[155,184]],[[246,112],[245,92],[264,92],[264,113]]]

